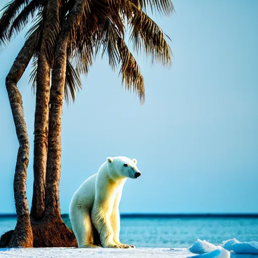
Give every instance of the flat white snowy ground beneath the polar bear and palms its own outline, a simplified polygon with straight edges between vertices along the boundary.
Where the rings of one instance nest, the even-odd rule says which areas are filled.
[[[135,248],[135,249],[78,249],[78,248],[0,248],[0,257],[20,257],[20,258],[71,258],[71,257],[94,257],[94,258],[127,258],[127,257],[147,257],[147,258],[186,258],[197,256],[189,252],[188,248]],[[200,256],[202,257],[202,256]],[[231,258],[257,258],[257,255],[230,253]],[[214,257],[215,258],[215,257]]]

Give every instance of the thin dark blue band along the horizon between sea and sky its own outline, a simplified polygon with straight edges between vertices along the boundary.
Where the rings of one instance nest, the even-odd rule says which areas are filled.
[[[15,213],[0,213],[0,218],[16,218]],[[68,213],[61,214],[68,218]],[[121,218],[258,218],[258,213],[121,213]]]

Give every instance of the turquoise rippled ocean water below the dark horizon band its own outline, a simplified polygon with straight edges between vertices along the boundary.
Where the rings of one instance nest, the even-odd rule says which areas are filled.
[[[69,218],[64,222],[71,228]],[[14,229],[16,218],[0,218],[0,234]],[[258,218],[121,218],[120,241],[137,247],[189,247],[198,238],[213,244],[236,238],[258,241]]]

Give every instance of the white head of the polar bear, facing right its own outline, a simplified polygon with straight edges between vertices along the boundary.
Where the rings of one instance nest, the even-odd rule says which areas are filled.
[[[141,175],[136,159],[126,157],[107,157],[109,171],[115,173],[120,178],[130,177],[137,178]]]

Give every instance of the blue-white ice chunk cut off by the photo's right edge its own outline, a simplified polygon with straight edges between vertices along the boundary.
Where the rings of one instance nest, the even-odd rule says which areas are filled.
[[[258,242],[239,242],[235,238],[223,242],[223,247],[229,251],[241,254],[258,254]]]

